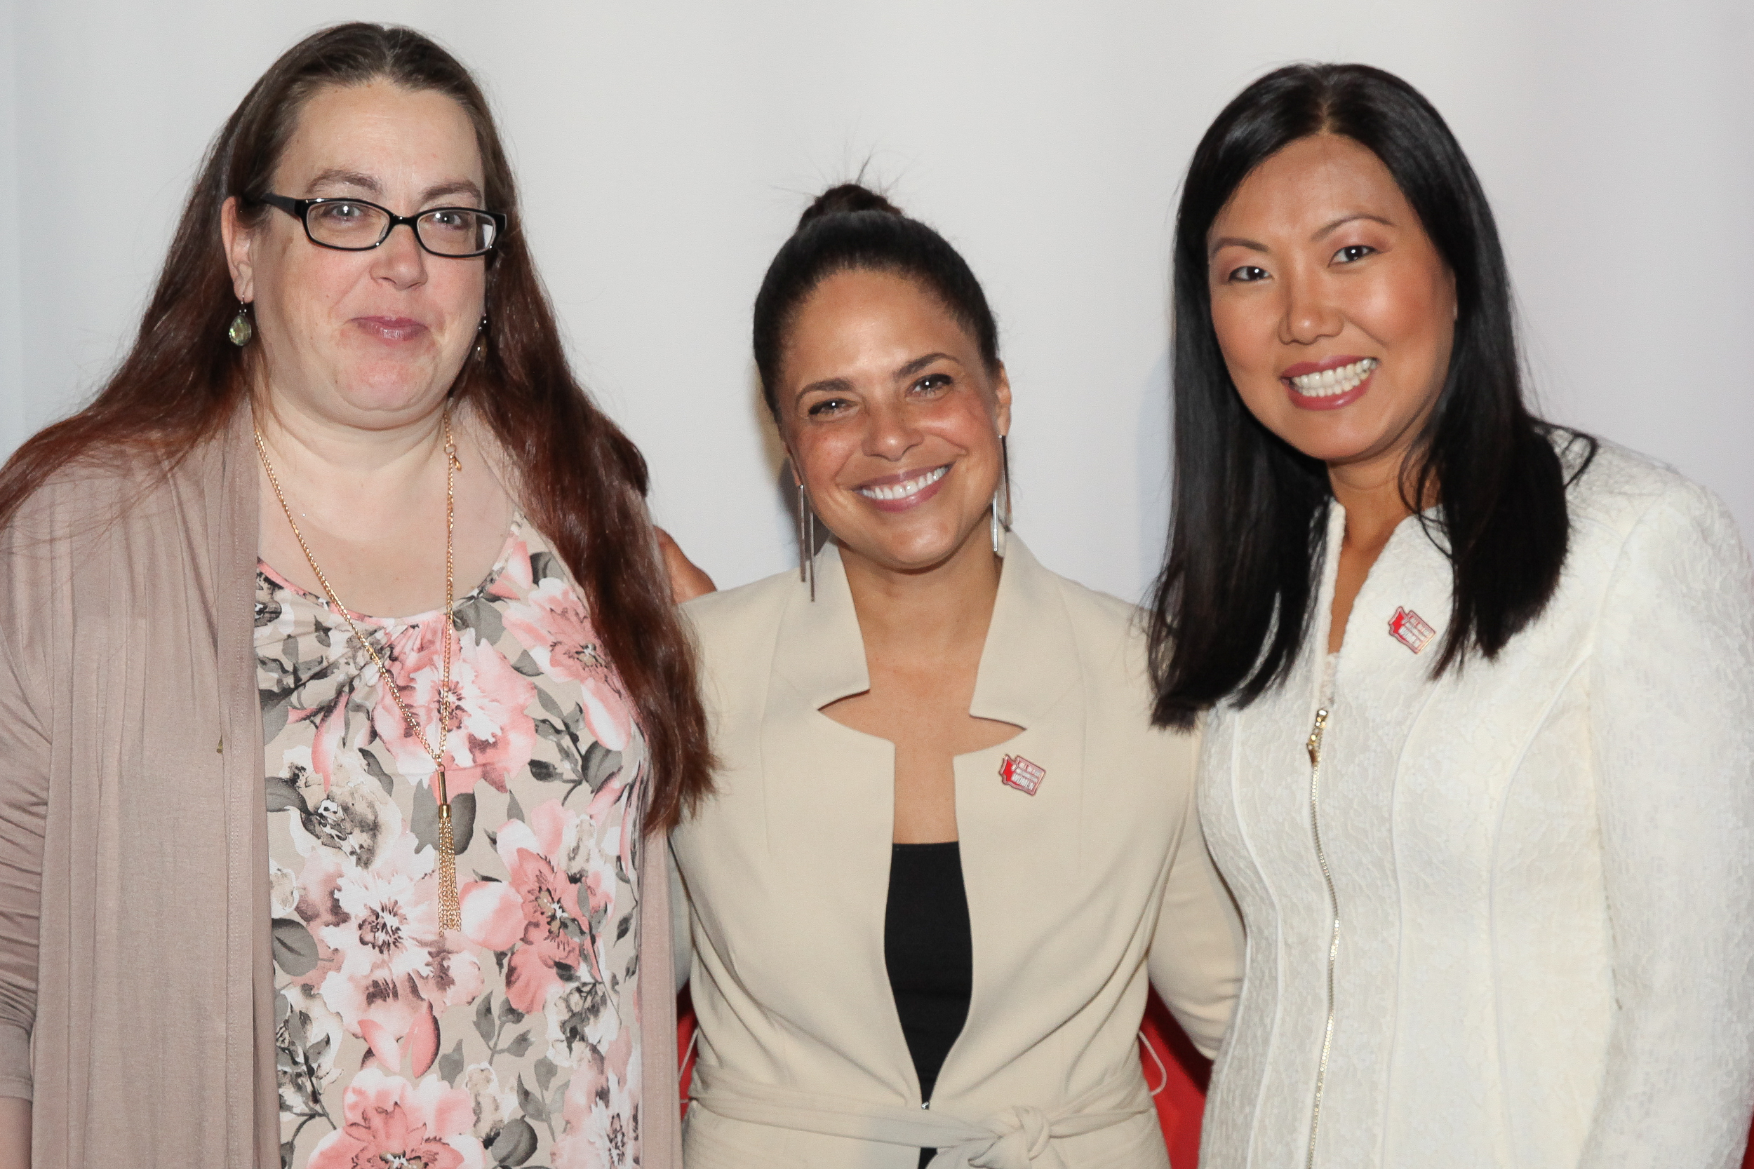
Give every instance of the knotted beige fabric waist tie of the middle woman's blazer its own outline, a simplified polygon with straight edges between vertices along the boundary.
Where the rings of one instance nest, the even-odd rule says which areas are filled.
[[[1054,1137],[1084,1136],[1152,1109],[1131,1069],[1117,1071],[1054,1111],[1012,1104],[975,1122],[923,1108],[754,1083],[698,1064],[691,1099],[728,1120],[854,1141],[935,1148],[931,1169],[1066,1169]]]

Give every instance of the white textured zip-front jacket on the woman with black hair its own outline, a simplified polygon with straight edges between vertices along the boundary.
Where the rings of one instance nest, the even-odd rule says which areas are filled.
[[[1289,682],[1210,719],[1200,811],[1249,946],[1201,1165],[1736,1164],[1749,557],[1710,492],[1608,443],[1570,508],[1540,620],[1437,682],[1451,570],[1417,519],[1394,531],[1347,622],[1314,794],[1335,557]],[[1422,650],[1396,612],[1430,626]]]

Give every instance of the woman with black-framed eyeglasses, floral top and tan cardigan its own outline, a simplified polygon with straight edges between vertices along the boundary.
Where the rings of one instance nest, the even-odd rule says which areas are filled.
[[[468,70],[289,49],[0,471],[0,1165],[679,1164],[644,489]]]

